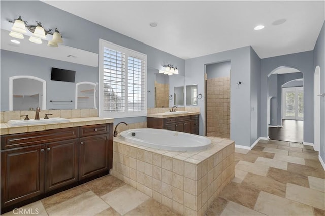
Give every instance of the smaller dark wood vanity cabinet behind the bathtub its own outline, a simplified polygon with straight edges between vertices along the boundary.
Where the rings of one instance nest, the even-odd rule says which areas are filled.
[[[188,115],[169,118],[147,117],[147,127],[168,129],[190,134],[199,134],[199,115]]]

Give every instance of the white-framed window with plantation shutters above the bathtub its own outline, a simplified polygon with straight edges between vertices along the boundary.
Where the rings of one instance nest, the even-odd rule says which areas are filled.
[[[147,56],[102,39],[100,48],[100,116],[146,116]]]

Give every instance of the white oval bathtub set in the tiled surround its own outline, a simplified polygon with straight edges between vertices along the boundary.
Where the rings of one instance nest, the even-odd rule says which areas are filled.
[[[164,129],[129,129],[120,135],[130,143],[171,151],[199,151],[211,145],[206,137]]]

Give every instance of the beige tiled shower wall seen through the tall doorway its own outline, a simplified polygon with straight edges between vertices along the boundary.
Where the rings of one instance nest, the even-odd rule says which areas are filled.
[[[230,77],[207,79],[207,136],[230,138]]]

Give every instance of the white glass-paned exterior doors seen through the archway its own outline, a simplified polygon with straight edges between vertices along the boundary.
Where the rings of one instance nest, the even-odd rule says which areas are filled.
[[[304,120],[303,87],[282,88],[282,118]]]

